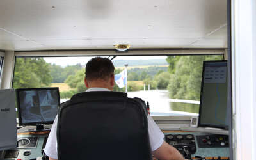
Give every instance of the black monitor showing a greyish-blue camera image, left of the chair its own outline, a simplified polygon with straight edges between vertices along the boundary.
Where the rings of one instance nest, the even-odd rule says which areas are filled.
[[[36,125],[40,131],[53,123],[60,106],[59,88],[19,88],[16,95],[19,125]]]

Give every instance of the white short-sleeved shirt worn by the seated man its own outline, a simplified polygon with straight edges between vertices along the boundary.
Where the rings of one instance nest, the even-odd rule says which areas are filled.
[[[110,91],[107,88],[89,88],[86,90],[86,92],[90,91]],[[45,154],[49,157],[52,157],[54,159],[58,159],[58,152],[57,152],[57,122],[58,122],[58,116],[56,116],[53,124],[51,132],[48,136],[47,143],[45,145]],[[164,134],[161,132],[157,124],[154,122],[151,116],[148,116],[148,134],[149,134],[149,141],[150,141],[150,147],[151,150],[157,150],[159,148],[164,140]]]

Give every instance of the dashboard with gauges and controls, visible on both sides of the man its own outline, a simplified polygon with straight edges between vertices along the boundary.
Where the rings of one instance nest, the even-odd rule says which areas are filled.
[[[200,156],[211,160],[229,159],[228,136],[180,130],[163,130],[163,132],[166,143],[177,148],[183,155],[189,153],[192,159]],[[18,133],[19,147],[6,150],[3,158],[34,160],[39,157],[40,159],[44,154],[48,134],[49,131],[43,134]]]

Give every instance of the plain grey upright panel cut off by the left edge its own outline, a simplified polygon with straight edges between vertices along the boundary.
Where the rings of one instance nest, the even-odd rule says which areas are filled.
[[[15,108],[15,90],[0,90],[0,151],[17,147]]]

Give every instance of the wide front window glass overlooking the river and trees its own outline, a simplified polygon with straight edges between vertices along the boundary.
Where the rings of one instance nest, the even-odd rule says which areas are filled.
[[[13,88],[57,86],[65,102],[86,90],[84,68],[91,58],[16,58]],[[198,113],[204,60],[223,60],[223,56],[117,56],[112,61],[116,79],[127,67],[128,97],[140,97],[148,102],[151,115],[161,116]],[[119,86],[115,84],[113,90],[125,92],[126,86]]]

